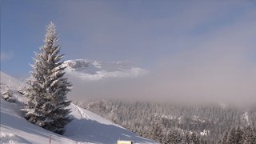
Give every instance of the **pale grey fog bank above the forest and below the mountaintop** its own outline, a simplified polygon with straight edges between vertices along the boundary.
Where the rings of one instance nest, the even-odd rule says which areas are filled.
[[[80,98],[124,98],[162,102],[256,102],[255,10],[229,26],[178,39],[179,50],[158,62],[155,70],[134,79],[81,82],[73,95]],[[170,45],[171,46],[171,45]],[[86,91],[86,93],[84,93]]]

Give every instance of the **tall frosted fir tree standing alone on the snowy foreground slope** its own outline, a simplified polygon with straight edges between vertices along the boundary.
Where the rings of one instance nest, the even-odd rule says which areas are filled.
[[[40,48],[41,53],[35,53],[33,72],[27,82],[25,95],[27,101],[22,110],[25,118],[35,125],[58,134],[64,133],[64,126],[71,121],[68,117],[70,105],[66,94],[70,91],[70,82],[64,78],[60,53],[61,46],[56,46],[58,35],[56,26],[50,22],[46,26],[45,44]]]

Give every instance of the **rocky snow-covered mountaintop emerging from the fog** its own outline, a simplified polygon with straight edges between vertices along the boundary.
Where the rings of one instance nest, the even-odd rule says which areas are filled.
[[[130,66],[129,62],[98,62],[86,59],[67,60],[63,63],[66,74],[87,81],[103,78],[135,78],[147,74],[147,70]]]

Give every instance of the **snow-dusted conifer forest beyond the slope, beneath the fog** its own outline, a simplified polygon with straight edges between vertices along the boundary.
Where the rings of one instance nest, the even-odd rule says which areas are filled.
[[[218,143],[232,126],[254,126],[256,106],[176,105],[94,100],[79,106],[161,143]]]

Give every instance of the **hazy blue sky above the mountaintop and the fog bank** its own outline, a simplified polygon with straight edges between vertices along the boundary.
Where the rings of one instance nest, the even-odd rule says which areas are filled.
[[[151,70],[165,58],[197,51],[218,33],[227,31],[224,38],[230,40],[232,26],[242,31],[255,22],[255,9],[254,1],[2,0],[1,70],[28,75],[50,21],[57,25],[65,59],[126,60]],[[254,36],[242,35],[250,38],[242,50],[255,47]],[[246,56],[255,62],[255,50]]]

